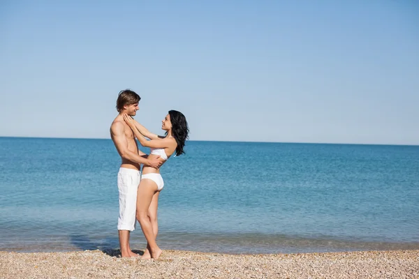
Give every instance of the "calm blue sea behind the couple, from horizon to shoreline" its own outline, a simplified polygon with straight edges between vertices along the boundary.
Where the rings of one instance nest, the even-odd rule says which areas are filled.
[[[119,248],[119,162],[111,140],[0,137],[0,250]],[[419,146],[191,141],[161,174],[163,249],[419,249]]]

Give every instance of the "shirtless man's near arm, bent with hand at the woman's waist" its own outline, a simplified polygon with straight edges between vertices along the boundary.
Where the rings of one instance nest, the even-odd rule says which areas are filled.
[[[150,160],[148,158],[143,158],[133,151],[128,150],[128,141],[126,140],[124,133],[124,124],[121,122],[115,122],[112,124],[112,126],[110,126],[110,134],[112,136],[115,147],[117,148],[117,151],[122,158],[138,164],[149,165],[154,168],[159,168],[161,166],[162,162],[159,160],[159,158],[156,158],[156,160]]]

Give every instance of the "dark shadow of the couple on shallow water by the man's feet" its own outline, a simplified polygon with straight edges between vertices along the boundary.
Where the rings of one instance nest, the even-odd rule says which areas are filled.
[[[105,239],[90,239],[86,235],[73,234],[70,236],[73,246],[82,250],[101,250],[111,257],[121,257],[121,250],[112,247],[119,247],[119,239],[117,237],[108,237]],[[133,250],[135,254],[144,255],[143,250]]]

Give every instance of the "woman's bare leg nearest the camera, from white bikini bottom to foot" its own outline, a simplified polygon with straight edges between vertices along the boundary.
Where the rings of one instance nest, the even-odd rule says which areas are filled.
[[[141,179],[137,195],[137,219],[140,222],[145,239],[147,239],[149,252],[154,259],[158,259],[162,252],[159,246],[157,246],[152,223],[148,216],[149,207],[156,191],[157,184],[154,181],[151,179]]]

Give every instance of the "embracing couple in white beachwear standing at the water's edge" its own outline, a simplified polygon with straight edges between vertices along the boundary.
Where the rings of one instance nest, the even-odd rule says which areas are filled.
[[[132,252],[129,246],[130,232],[135,229],[135,220],[138,220],[147,239],[147,248],[142,259],[158,259],[162,250],[156,243],[159,232],[157,206],[160,191],[164,186],[159,167],[173,153],[176,156],[184,153],[189,128],[181,112],[170,110],[161,125],[166,135],[150,133],[132,118],[139,110],[140,99],[137,93],[129,89],[119,92],[117,99],[119,114],[110,126],[110,136],[122,158],[117,180],[119,245],[122,257],[139,256]],[[142,146],[150,148],[149,155],[138,149],[135,138]]]

